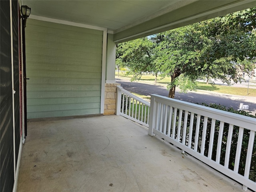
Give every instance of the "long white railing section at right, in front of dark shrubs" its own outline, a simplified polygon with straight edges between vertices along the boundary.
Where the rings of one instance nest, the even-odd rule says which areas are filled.
[[[151,95],[148,134],[256,189],[256,118]]]

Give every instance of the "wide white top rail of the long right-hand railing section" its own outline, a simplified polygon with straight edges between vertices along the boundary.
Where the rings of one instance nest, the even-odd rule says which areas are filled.
[[[243,116],[240,114],[235,114],[232,112],[226,112],[223,110],[218,110],[214,108],[209,108],[206,106],[201,106],[198,104],[193,104],[185,101],[180,101],[165,96],[160,96],[156,94],[151,95],[151,99],[155,98],[156,101],[162,101],[164,104],[170,105],[168,102],[172,102],[172,106],[180,108],[182,110],[187,110],[195,114],[202,116],[207,116],[216,120],[220,120],[229,124],[247,128],[253,131],[256,131],[256,118]],[[193,110],[191,110],[193,108]]]

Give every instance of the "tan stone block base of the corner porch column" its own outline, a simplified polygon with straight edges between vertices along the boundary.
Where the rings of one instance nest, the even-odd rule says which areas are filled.
[[[116,114],[116,86],[120,83],[105,83],[104,115]]]

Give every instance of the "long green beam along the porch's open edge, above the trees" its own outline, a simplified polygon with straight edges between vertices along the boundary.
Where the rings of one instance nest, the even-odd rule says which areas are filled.
[[[114,42],[133,40],[255,6],[255,0],[198,0],[136,26],[131,24],[115,30]]]

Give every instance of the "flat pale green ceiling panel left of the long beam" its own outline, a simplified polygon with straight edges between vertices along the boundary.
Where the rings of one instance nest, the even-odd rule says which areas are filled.
[[[117,30],[179,0],[23,0],[31,14]]]

